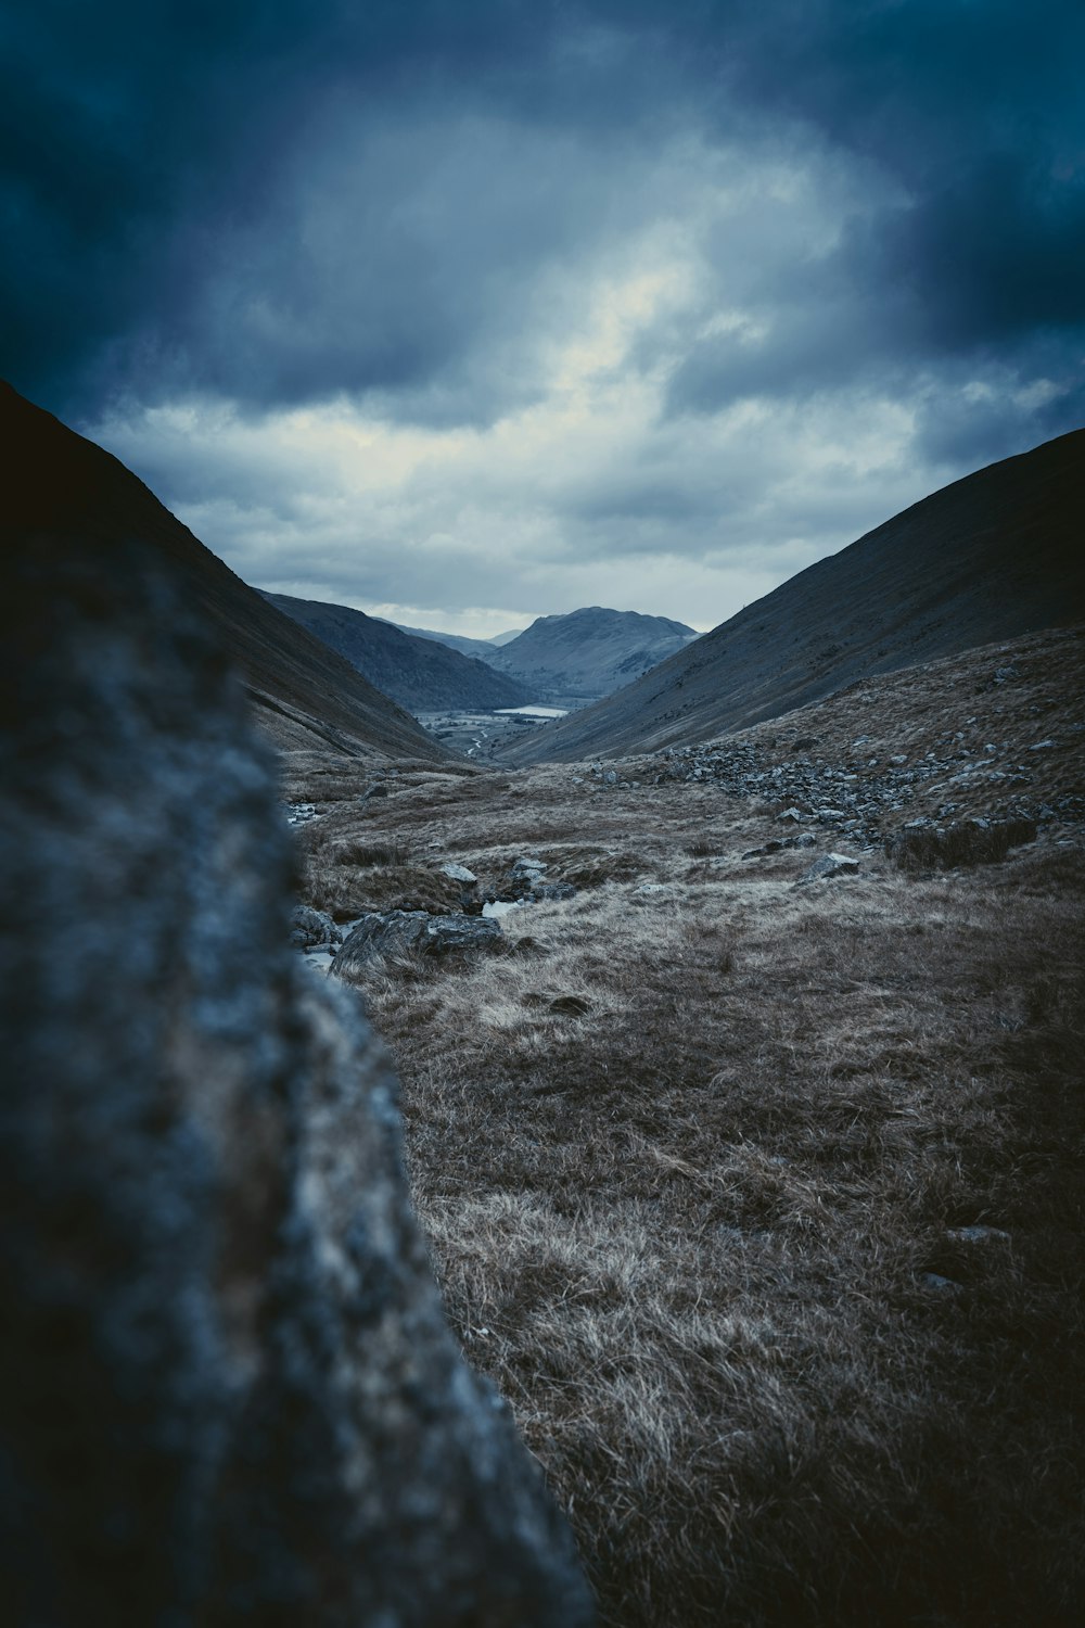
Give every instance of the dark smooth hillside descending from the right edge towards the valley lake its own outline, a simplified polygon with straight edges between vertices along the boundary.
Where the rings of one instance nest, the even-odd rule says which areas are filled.
[[[1074,430],[924,498],[503,760],[706,741],[869,674],[1080,619],[1085,430]]]

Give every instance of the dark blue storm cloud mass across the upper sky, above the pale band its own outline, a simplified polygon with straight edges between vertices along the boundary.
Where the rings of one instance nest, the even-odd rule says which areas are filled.
[[[709,243],[659,334],[672,414],[878,381],[976,461],[1083,415],[1078,0],[44,0],[0,26],[3,370],[59,410],[524,405],[569,269],[665,212],[644,176],[696,130],[828,155],[852,192],[768,265],[755,200],[745,278]],[[753,327],[714,332],[735,293]],[[939,399],[973,374],[999,400]]]

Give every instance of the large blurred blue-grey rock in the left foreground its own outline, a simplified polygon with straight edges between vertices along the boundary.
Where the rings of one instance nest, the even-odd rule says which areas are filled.
[[[586,1623],[216,640],[138,542],[0,545],[5,1621]]]

